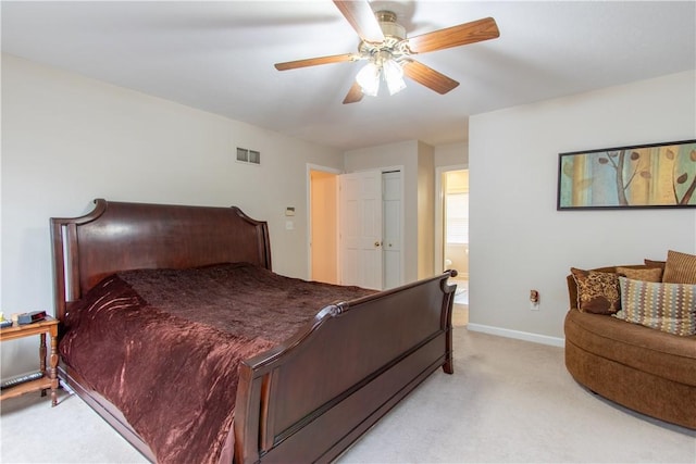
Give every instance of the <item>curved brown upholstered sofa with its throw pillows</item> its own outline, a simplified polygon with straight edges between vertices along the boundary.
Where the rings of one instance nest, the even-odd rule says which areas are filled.
[[[688,272],[696,272],[696,256],[669,253],[662,263],[646,260],[645,265],[571,268],[567,277],[570,310],[564,321],[566,366],[579,384],[595,393],[648,416],[696,429],[696,286],[669,281],[693,276],[678,272],[674,277],[673,265],[671,274],[664,267],[670,258],[679,255],[694,265]],[[660,265],[658,279],[655,268]],[[643,280],[648,274],[651,277]],[[593,286],[594,290],[588,290]],[[670,313],[674,296],[684,316],[676,322]],[[636,306],[652,312],[650,317],[639,314],[636,318]]]

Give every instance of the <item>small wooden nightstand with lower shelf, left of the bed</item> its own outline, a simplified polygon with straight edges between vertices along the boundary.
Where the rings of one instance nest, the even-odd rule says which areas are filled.
[[[51,354],[49,356],[48,375],[46,368],[46,334],[51,339]],[[41,396],[46,394],[47,389],[51,389],[51,404],[58,404],[58,321],[51,316],[46,316],[44,321],[34,324],[13,325],[0,329],[0,341],[16,340],[32,335],[39,336],[39,365],[44,376],[36,380],[18,384],[14,387],[2,390],[0,401],[8,398],[18,397],[29,391],[41,390]]]

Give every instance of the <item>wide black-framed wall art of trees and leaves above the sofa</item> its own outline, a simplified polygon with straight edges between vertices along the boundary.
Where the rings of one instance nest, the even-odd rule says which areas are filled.
[[[560,153],[557,210],[695,208],[696,140]]]

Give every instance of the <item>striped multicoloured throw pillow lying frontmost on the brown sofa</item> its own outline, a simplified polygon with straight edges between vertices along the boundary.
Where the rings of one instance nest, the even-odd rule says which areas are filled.
[[[679,336],[696,335],[696,285],[619,277],[621,311],[614,317]]]

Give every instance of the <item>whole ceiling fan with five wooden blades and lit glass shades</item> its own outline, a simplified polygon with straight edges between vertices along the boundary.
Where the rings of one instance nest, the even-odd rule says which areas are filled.
[[[386,81],[391,95],[406,87],[402,76],[440,95],[447,93],[459,83],[415,61],[412,57],[500,36],[495,20],[486,17],[415,37],[407,37],[406,28],[396,22],[397,15],[391,11],[373,12],[366,0],[334,0],[334,3],[360,37],[358,52],[276,63],[275,68],[287,71],[319,64],[366,60],[368,64],[356,76],[356,81],[346,95],[344,103],[358,102],[362,100],[363,95],[377,95],[381,77]]]

